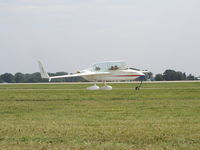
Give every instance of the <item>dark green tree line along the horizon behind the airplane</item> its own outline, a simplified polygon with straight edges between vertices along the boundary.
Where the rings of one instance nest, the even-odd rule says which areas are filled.
[[[67,72],[49,73],[50,76],[67,75]],[[192,74],[186,75],[184,72],[167,69],[163,74],[147,73],[145,80],[152,81],[175,81],[175,80],[197,80],[197,77]],[[82,77],[60,78],[53,79],[53,82],[87,82]],[[4,73],[0,75],[0,83],[36,83],[36,82],[49,82],[48,79],[42,79],[39,72],[32,74],[23,74],[18,72],[16,74]]]

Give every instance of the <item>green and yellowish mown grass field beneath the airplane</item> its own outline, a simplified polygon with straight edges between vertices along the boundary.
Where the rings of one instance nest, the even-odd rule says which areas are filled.
[[[0,149],[200,149],[200,82],[88,86],[1,84]]]

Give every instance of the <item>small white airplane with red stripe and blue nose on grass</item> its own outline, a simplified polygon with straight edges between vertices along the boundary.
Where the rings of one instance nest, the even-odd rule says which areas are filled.
[[[78,71],[74,74],[61,75],[61,76],[49,76],[45,71],[42,63],[38,61],[40,68],[41,77],[44,79],[49,79],[49,82],[52,79],[57,78],[68,78],[68,77],[78,77],[81,76],[88,81],[94,81],[95,84],[91,87],[88,87],[87,90],[112,90],[112,86],[106,84],[106,81],[128,81],[135,80],[137,78],[141,79],[141,83],[135,89],[139,90],[142,81],[145,77],[145,73],[148,71],[141,71],[134,68],[127,68],[124,61],[105,61],[98,62],[92,65],[91,68]],[[97,81],[103,81],[104,86],[99,87],[96,85]]]

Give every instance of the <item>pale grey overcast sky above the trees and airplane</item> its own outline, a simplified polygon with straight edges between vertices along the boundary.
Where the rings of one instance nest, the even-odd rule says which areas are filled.
[[[200,75],[199,0],[0,0],[0,74],[124,60]]]

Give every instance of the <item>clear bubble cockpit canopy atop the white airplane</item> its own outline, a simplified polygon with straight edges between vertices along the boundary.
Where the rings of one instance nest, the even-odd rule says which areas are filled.
[[[124,61],[106,61],[93,64],[92,69],[94,71],[114,71],[126,69],[126,65]]]

